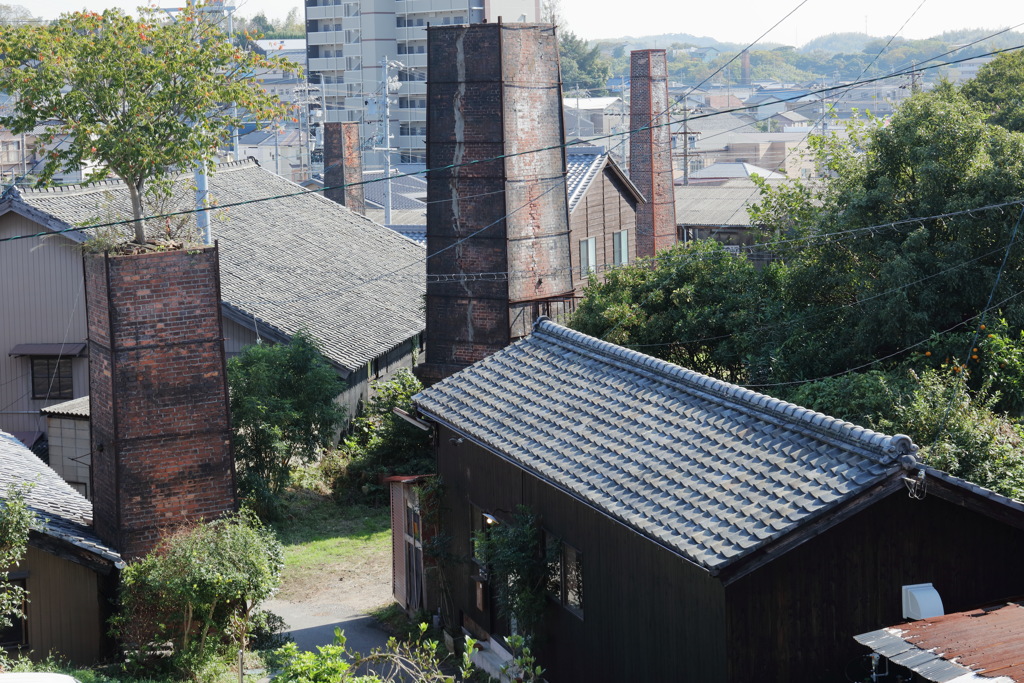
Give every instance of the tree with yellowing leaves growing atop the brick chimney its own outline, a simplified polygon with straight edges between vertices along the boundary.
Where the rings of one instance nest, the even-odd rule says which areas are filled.
[[[256,76],[294,70],[234,47],[202,3],[186,4],[174,19],[143,7],[137,19],[109,9],[0,30],[0,90],[16,95],[0,123],[14,133],[44,126],[40,141],[52,148],[41,183],[93,163],[87,181],[124,180],[140,244],[147,203],[176,173],[212,161],[243,114],[284,114]]]

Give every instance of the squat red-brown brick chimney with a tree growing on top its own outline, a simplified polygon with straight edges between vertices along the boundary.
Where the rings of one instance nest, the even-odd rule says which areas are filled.
[[[236,507],[217,248],[85,257],[93,523],[126,557]]]

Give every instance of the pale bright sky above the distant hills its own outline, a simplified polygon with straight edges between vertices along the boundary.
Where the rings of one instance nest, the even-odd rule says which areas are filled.
[[[17,4],[17,0],[7,0]],[[781,20],[764,40],[801,46],[829,33],[866,31],[929,38],[952,29],[1006,29],[1024,24],[1024,5],[1012,0],[765,0],[685,2],[681,0],[560,0],[564,26],[588,40],[624,36],[688,33],[720,41],[753,43]],[[171,6],[173,0],[162,0]],[[300,3],[288,0],[234,0],[238,14],[264,12],[281,18]],[[65,11],[106,7],[133,9],[138,0],[33,0],[23,2],[36,15],[52,18]],[[183,4],[180,3],[180,4]],[[792,10],[793,14],[784,18]],[[301,12],[300,12],[301,13]],[[903,26],[905,23],[905,27]],[[1024,26],[1019,30],[1024,31]],[[665,47],[668,47],[666,45]]]

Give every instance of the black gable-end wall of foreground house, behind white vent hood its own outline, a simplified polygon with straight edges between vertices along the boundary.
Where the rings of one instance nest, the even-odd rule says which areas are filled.
[[[730,680],[847,680],[853,636],[904,621],[902,586],[934,584],[948,613],[1019,596],[1021,566],[1021,529],[893,494],[726,588]]]

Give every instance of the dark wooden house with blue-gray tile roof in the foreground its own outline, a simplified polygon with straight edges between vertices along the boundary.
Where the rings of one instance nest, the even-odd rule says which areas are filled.
[[[906,436],[547,319],[414,402],[453,557],[518,506],[560,542],[549,681],[842,681],[903,586],[948,610],[1024,589],[1024,505],[923,466]],[[446,571],[455,626],[500,642],[480,569]]]

